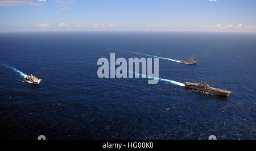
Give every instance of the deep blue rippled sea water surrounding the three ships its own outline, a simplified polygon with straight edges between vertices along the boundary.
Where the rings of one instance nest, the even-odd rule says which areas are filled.
[[[143,54],[193,59],[195,66],[159,58],[159,77],[203,80],[232,94],[98,78],[97,61],[110,61],[110,53],[127,60]],[[0,61],[0,139],[256,139],[253,33],[0,33]],[[22,82],[3,64],[43,80]]]

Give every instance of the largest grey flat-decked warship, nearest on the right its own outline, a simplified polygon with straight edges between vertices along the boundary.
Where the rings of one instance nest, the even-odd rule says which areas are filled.
[[[204,84],[202,84],[201,82],[202,81],[200,81],[200,83],[186,82],[185,87],[189,87],[191,89],[200,90],[200,91],[204,91],[204,92],[215,94],[215,95],[223,95],[226,97],[228,97],[229,94],[232,93],[231,91],[221,90],[221,89],[217,89],[214,87],[210,87],[207,84],[207,82],[205,82]]]

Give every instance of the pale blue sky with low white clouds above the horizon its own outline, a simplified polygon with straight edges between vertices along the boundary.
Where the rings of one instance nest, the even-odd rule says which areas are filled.
[[[256,32],[255,0],[0,0],[0,32]]]

